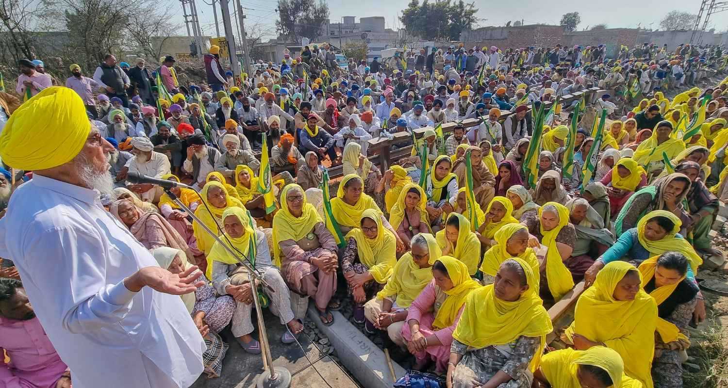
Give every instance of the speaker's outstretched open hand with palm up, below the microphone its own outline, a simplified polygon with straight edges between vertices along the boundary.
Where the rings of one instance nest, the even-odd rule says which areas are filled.
[[[191,266],[179,274],[173,274],[158,266],[146,266],[124,279],[124,286],[132,292],[149,286],[160,293],[183,295],[205,284],[203,280],[197,281],[201,276],[202,272],[197,271],[197,266]]]

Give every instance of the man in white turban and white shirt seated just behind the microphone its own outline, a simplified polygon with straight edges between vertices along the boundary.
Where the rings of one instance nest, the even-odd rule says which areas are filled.
[[[129,161],[129,172],[140,173],[151,178],[161,179],[162,175],[172,172],[167,155],[154,151],[154,144],[149,138],[132,138],[132,154]],[[158,202],[162,197],[162,188],[151,183],[127,183],[127,189],[147,202]]]

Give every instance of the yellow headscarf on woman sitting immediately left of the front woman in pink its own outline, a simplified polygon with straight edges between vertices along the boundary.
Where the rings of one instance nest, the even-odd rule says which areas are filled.
[[[442,256],[443,252],[435,241],[435,237],[429,233],[420,234],[427,240],[427,250],[430,258],[427,260],[430,265]],[[412,259],[412,252],[405,253],[395,264],[392,269],[392,276],[389,277],[384,289],[376,294],[376,298],[381,300],[388,296],[396,296],[395,303],[401,308],[407,308],[412,304],[422,289],[432,280],[432,269],[420,268]]]

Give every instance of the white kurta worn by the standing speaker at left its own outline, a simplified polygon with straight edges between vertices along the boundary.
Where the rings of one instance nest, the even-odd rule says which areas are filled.
[[[74,388],[183,388],[202,373],[205,342],[181,298],[124,287],[157,261],[97,191],[35,175],[0,220],[0,256],[15,262]]]

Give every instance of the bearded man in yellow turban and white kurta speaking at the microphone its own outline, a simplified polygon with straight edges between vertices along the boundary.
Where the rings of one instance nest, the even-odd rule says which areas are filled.
[[[111,149],[72,89],[49,87],[17,108],[0,157],[33,179],[0,220],[0,256],[15,262],[74,388],[189,387],[205,342],[175,295],[201,286],[201,272],[160,268],[104,210]]]

